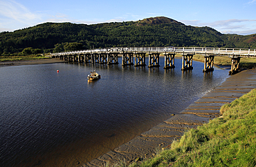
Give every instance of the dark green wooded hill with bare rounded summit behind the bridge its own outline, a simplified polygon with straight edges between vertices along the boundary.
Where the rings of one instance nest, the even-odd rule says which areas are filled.
[[[197,46],[256,48],[255,35],[223,35],[209,27],[185,26],[167,17],[141,21],[98,23],[42,23],[0,33],[0,55],[29,52],[62,52],[122,46]],[[24,53],[24,52],[23,52]]]

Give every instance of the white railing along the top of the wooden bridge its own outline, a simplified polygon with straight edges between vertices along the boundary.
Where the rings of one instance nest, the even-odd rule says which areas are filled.
[[[192,48],[192,47],[122,47],[122,48],[98,48],[92,50],[80,50],[73,52],[60,52],[54,55],[79,55],[84,53],[98,52],[176,52],[176,53],[193,53],[202,55],[237,55],[242,57],[255,57],[255,49],[240,48]]]

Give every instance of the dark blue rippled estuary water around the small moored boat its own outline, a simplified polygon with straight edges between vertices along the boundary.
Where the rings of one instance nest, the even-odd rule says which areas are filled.
[[[118,60],[121,62],[121,59]],[[0,67],[0,166],[81,166],[181,112],[228,77],[194,70],[53,63]],[[96,70],[102,76],[88,82]],[[57,72],[59,70],[59,72]]]

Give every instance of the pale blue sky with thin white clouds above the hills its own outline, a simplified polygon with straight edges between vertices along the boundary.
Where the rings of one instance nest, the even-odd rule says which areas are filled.
[[[0,32],[45,22],[105,23],[169,17],[223,34],[256,33],[256,0],[0,0]]]

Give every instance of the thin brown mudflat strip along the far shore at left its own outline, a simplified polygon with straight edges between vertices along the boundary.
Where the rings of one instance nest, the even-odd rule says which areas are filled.
[[[60,59],[37,59],[37,60],[21,60],[21,61],[0,61],[0,66],[22,66],[35,65],[44,63],[64,63],[66,61]]]

